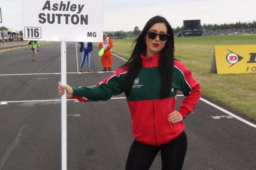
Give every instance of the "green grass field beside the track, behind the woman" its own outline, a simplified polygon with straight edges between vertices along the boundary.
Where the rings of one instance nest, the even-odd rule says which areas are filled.
[[[113,53],[128,59],[133,41],[134,39],[113,40]],[[175,58],[191,69],[202,86],[202,95],[255,120],[256,73],[210,73],[214,45],[256,45],[256,34],[175,37]]]

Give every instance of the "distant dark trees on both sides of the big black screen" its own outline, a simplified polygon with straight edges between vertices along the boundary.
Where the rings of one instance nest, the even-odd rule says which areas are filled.
[[[236,22],[236,23],[223,23],[223,24],[203,24],[201,29],[219,30],[219,29],[232,29],[232,28],[256,28],[256,21],[253,22]],[[182,32],[183,26],[173,29],[174,33]]]

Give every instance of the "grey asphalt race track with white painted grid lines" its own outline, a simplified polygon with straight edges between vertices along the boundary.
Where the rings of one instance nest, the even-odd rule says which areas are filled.
[[[39,50],[38,62],[32,62],[30,49],[0,55],[0,170],[61,170],[60,44]],[[112,74],[100,72],[97,52],[94,46],[91,72],[79,74],[75,43],[67,42],[67,84],[90,86]],[[113,58],[113,70],[125,63]],[[113,97],[67,101],[68,170],[124,170],[133,141],[131,119],[124,94]],[[177,99],[179,105],[183,96]],[[256,122],[203,99],[184,120],[188,151],[183,170],[256,170]],[[150,170],[160,169],[158,154]]]

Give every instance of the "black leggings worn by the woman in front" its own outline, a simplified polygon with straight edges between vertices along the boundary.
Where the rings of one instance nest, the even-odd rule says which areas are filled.
[[[146,145],[135,141],[132,143],[125,170],[149,170],[157,153],[161,150],[162,170],[181,170],[186,155],[187,138],[182,132],[166,144]]]

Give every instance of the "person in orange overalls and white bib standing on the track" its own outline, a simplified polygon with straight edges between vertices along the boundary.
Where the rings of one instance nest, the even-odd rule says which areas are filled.
[[[113,57],[112,57],[112,52],[111,52],[111,48],[113,47],[113,43],[110,37],[107,37],[107,34],[103,34],[103,42],[100,42],[99,44],[99,48],[102,49],[104,48],[104,53],[102,55],[102,66],[103,66],[103,70],[102,71],[107,71],[107,66],[109,71],[111,70],[112,67],[112,61],[113,61]]]

